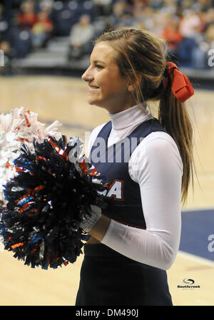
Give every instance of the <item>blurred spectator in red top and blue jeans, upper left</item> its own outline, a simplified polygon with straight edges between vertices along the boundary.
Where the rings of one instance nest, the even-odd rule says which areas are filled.
[[[51,38],[53,24],[49,19],[49,11],[41,10],[37,14],[37,21],[31,28],[31,40],[34,48],[46,46],[46,43]]]

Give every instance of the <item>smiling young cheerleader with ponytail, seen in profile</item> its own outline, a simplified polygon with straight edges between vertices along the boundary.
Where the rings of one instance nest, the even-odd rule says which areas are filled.
[[[111,120],[89,143],[91,163],[108,178],[108,207],[94,206],[81,225],[91,238],[76,305],[173,304],[166,270],[178,252],[180,202],[193,168],[183,103],[193,88],[166,56],[164,41],[148,31],[118,29],[98,38],[82,76],[88,103]],[[158,120],[148,100],[160,100]]]

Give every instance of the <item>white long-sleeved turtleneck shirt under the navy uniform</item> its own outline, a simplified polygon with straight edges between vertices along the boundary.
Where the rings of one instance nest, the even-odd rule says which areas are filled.
[[[148,108],[136,105],[109,116],[112,129],[108,146],[128,136],[140,123],[151,118],[151,113]],[[88,151],[103,125],[92,131]],[[140,186],[146,229],[111,220],[101,242],[130,259],[169,269],[180,243],[183,175],[183,163],[173,138],[164,132],[149,134],[133,151],[128,172]]]

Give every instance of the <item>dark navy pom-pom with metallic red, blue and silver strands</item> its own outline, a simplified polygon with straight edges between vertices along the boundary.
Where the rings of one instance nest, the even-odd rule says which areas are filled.
[[[57,268],[73,263],[88,239],[79,224],[91,216],[91,205],[104,205],[103,180],[80,155],[78,138],[66,143],[49,138],[23,145],[14,160],[19,172],[6,184],[7,207],[1,208],[4,247],[31,267]],[[77,158],[76,157],[76,158]]]

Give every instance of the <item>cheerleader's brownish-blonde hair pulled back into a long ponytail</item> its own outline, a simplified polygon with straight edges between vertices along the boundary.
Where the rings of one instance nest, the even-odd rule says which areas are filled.
[[[114,59],[121,75],[136,83],[136,103],[159,100],[158,120],[172,135],[183,161],[182,202],[188,195],[193,179],[193,128],[185,110],[171,91],[173,74],[164,86],[167,50],[164,39],[153,33],[134,28],[121,28],[103,33],[95,42],[107,41],[113,48]],[[141,81],[139,81],[141,75]]]

